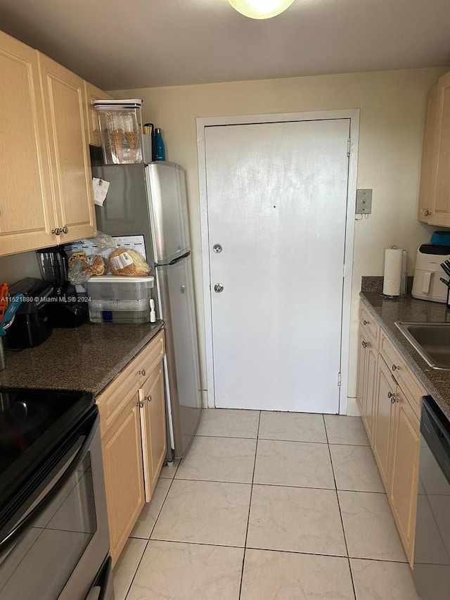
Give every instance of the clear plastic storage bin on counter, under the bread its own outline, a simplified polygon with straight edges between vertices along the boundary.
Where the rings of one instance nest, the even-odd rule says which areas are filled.
[[[89,319],[93,323],[150,322],[153,276],[103,275],[87,281]]]

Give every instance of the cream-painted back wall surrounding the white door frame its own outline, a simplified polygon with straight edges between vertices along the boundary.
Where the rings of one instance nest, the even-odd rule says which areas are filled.
[[[383,274],[384,248],[392,244],[408,250],[408,270],[413,274],[417,247],[429,241],[433,231],[416,220],[420,156],[426,94],[445,71],[430,68],[111,91],[116,98],[143,98],[143,120],[162,128],[167,160],[179,162],[187,170],[203,388],[205,347],[195,118],[361,110],[357,185],[373,189],[373,213],[355,223],[349,364],[349,396],[354,397],[361,276]],[[349,402],[350,407],[353,404]]]

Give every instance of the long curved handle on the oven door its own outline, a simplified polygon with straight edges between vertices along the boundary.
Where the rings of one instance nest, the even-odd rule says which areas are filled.
[[[8,535],[6,535],[3,538],[3,540],[1,540],[0,553],[11,547],[11,544],[13,544],[15,540],[17,540],[17,538],[30,526],[30,523],[32,523],[32,521],[34,521],[34,519],[37,518],[37,516],[39,516],[39,513],[43,512],[46,509],[46,507],[50,504],[53,498],[55,498],[59,494],[61,488],[65,485],[65,483],[68,482],[70,477],[73,475],[74,471],[76,471],[77,466],[79,466],[80,462],[82,461],[84,454],[86,454],[86,450],[91,445],[91,442],[96,433],[96,429],[98,427],[99,420],[100,418],[97,413],[94,421],[91,424],[91,429],[84,438],[82,445],[77,450],[75,457],[73,457],[69,464],[66,464],[63,475],[61,475],[58,481],[55,482],[53,487],[51,487],[51,490],[49,490],[49,492],[45,494],[44,498],[41,499],[41,502],[34,506],[34,509],[32,509],[32,511],[30,511],[30,513],[28,513],[22,521],[19,521],[17,525],[14,525],[13,529],[11,529]],[[85,421],[83,421],[82,424],[84,423]],[[80,426],[82,426],[82,424],[80,424]],[[79,438],[82,437],[83,435],[80,434]],[[77,442],[79,441],[79,438]],[[77,445],[77,442],[72,444],[72,447]]]

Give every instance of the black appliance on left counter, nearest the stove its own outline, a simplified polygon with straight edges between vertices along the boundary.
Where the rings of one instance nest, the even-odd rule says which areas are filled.
[[[9,288],[11,298],[20,293],[25,296],[25,300],[6,333],[8,348],[11,350],[39,346],[51,336],[49,298],[53,293],[53,286],[41,279],[25,277]]]

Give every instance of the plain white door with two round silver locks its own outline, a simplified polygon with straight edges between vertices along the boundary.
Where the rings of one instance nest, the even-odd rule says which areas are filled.
[[[216,407],[339,411],[349,128],[205,128]]]

